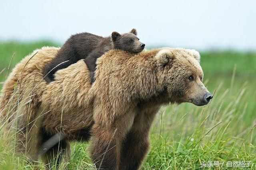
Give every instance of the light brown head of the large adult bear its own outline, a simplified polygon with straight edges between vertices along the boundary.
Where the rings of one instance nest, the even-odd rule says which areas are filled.
[[[164,72],[162,83],[170,101],[190,102],[196,106],[210,102],[213,96],[202,83],[204,74],[198,51],[163,48],[155,57],[158,67]]]

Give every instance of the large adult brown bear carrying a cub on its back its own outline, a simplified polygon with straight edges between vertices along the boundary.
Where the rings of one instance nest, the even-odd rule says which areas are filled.
[[[97,168],[138,169],[148,150],[148,133],[160,106],[182,102],[202,106],[212,98],[202,83],[200,55],[194,50],[162,48],[139,54],[112,50],[97,60],[94,84],[91,85],[90,72],[83,61],[58,70],[56,81],[46,84],[40,73],[45,63],[40,60],[44,60],[45,53],[49,53],[47,57],[50,58],[57,52],[56,48],[39,50],[31,59],[38,60],[39,69],[33,64],[31,68],[23,66],[23,72],[30,76],[22,76],[26,79],[25,84],[16,84],[26,92],[24,94],[30,94],[29,98],[21,95],[20,101],[24,100],[24,105],[20,107],[28,107],[30,102],[37,101],[31,111],[35,114],[30,115],[33,119],[29,121],[36,125],[30,125],[27,128],[30,133],[24,133],[30,135],[26,138],[33,139],[27,140],[30,148],[24,147],[33,160],[46,149],[42,157],[50,163],[49,157],[52,152],[56,154],[57,148],[59,156],[68,155],[70,140],[86,141],[92,135],[91,158]],[[17,69],[6,84],[15,83],[12,79]],[[22,67],[19,70],[22,72]],[[31,90],[26,84],[35,85]],[[4,86],[2,103],[7,104],[16,95],[13,91]],[[6,111],[2,111],[2,115],[7,115]],[[17,115],[12,116],[11,121],[15,117]],[[22,124],[22,121],[16,124]],[[21,131],[26,132],[26,129]],[[44,148],[48,139],[56,134],[62,136],[60,143],[52,149]],[[60,157],[55,158],[60,160]]]

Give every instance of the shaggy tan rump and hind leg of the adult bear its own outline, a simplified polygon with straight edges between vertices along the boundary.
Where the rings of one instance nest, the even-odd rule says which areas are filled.
[[[42,116],[37,117],[36,114],[47,85],[42,71],[57,55],[58,50],[55,47],[43,47],[22,59],[8,76],[0,95],[0,120],[5,125],[5,135],[12,132],[12,126],[17,125],[18,151],[29,153],[28,157],[32,160],[36,160],[38,156],[38,152],[32,149],[36,147],[40,150],[34,145],[32,137],[36,138],[40,133],[40,129],[36,127],[40,127],[37,124],[41,123]]]

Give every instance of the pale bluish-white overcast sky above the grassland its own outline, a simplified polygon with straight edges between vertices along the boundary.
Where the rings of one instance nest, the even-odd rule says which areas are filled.
[[[256,50],[255,0],[1,0],[0,41],[132,28],[146,46]]]

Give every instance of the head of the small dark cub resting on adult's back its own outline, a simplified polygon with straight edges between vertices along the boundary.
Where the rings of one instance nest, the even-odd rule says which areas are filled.
[[[145,44],[138,39],[136,29],[132,29],[129,33],[120,34],[118,32],[112,32],[112,41],[114,49],[120,49],[131,53],[141,52]]]

